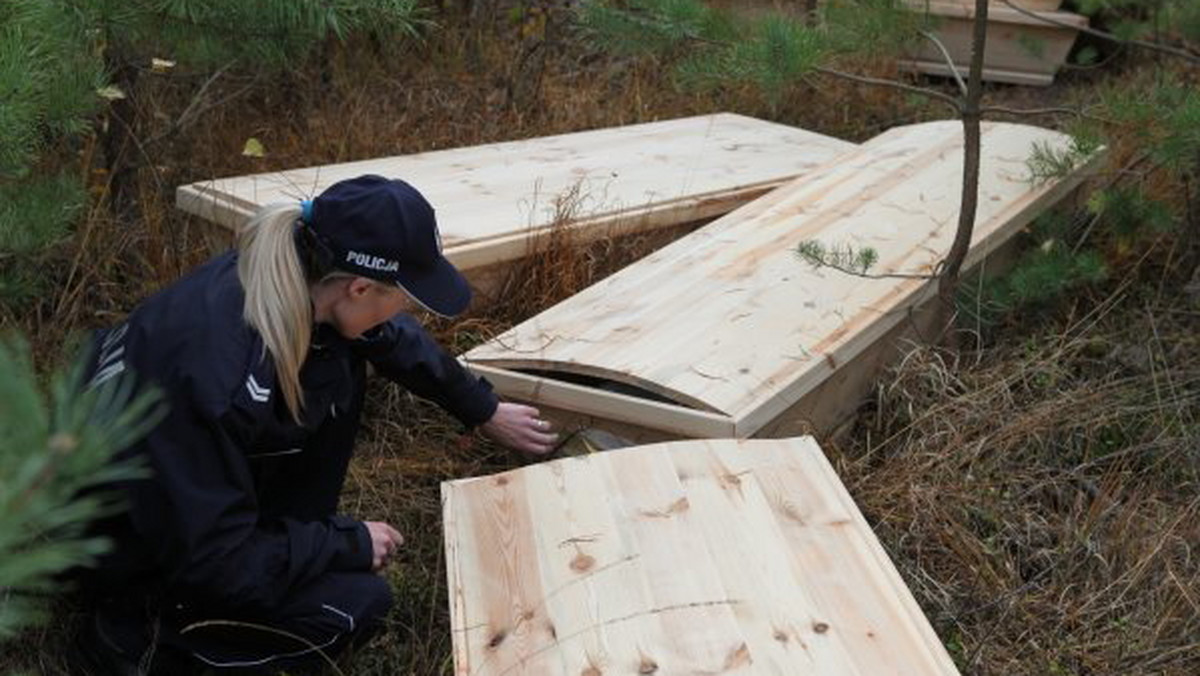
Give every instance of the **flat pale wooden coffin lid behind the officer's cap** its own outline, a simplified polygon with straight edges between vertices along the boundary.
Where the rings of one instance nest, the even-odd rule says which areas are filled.
[[[402,178],[437,209],[448,257],[472,269],[523,256],[529,237],[553,223],[554,198],[576,185],[581,223],[666,226],[731,211],[852,148],[719,113],[202,181],[180,187],[176,204],[238,228],[265,204],[307,198],[346,178]]]

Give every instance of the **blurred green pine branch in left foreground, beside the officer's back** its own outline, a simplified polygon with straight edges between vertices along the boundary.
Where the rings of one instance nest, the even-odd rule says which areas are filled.
[[[107,550],[86,526],[118,510],[107,490],[144,475],[113,457],[162,420],[128,373],[91,388],[84,365],[43,396],[24,342],[0,340],[0,639],[37,621],[58,575]]]

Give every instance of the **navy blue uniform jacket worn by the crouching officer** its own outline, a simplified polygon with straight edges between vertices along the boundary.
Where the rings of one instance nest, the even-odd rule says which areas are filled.
[[[259,512],[250,457],[300,448],[326,415],[349,405],[362,361],[468,426],[497,400],[410,317],[360,340],[328,327],[313,335],[301,370],[298,425],[276,387],[270,353],[242,319],[236,256],[202,265],[148,299],[125,324],[96,337],[92,383],[132,371],[164,395],[167,418],[127,451],[152,472],[127,487],[130,510],[107,530],[116,539],[102,580],[146,580],[172,596],[269,612],[289,590],[328,570],[366,570],[365,526],[331,516],[300,522]]]

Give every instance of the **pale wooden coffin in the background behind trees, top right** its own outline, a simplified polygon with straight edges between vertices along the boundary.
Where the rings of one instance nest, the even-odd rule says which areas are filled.
[[[936,19],[932,34],[949,52],[955,68],[966,79],[971,65],[974,0],[905,0],[917,12]],[[1014,84],[1048,85],[1067,60],[1079,29],[1087,17],[1058,11],[1062,0],[1014,0],[1019,12],[1004,2],[988,4],[988,44],[983,77]],[[917,71],[949,76],[946,56],[931,41],[924,41],[908,62]]]

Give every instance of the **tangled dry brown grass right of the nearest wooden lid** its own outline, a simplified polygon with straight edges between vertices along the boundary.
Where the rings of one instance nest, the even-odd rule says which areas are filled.
[[[1122,289],[950,364],[827,448],[972,674],[1200,669],[1200,312]]]

